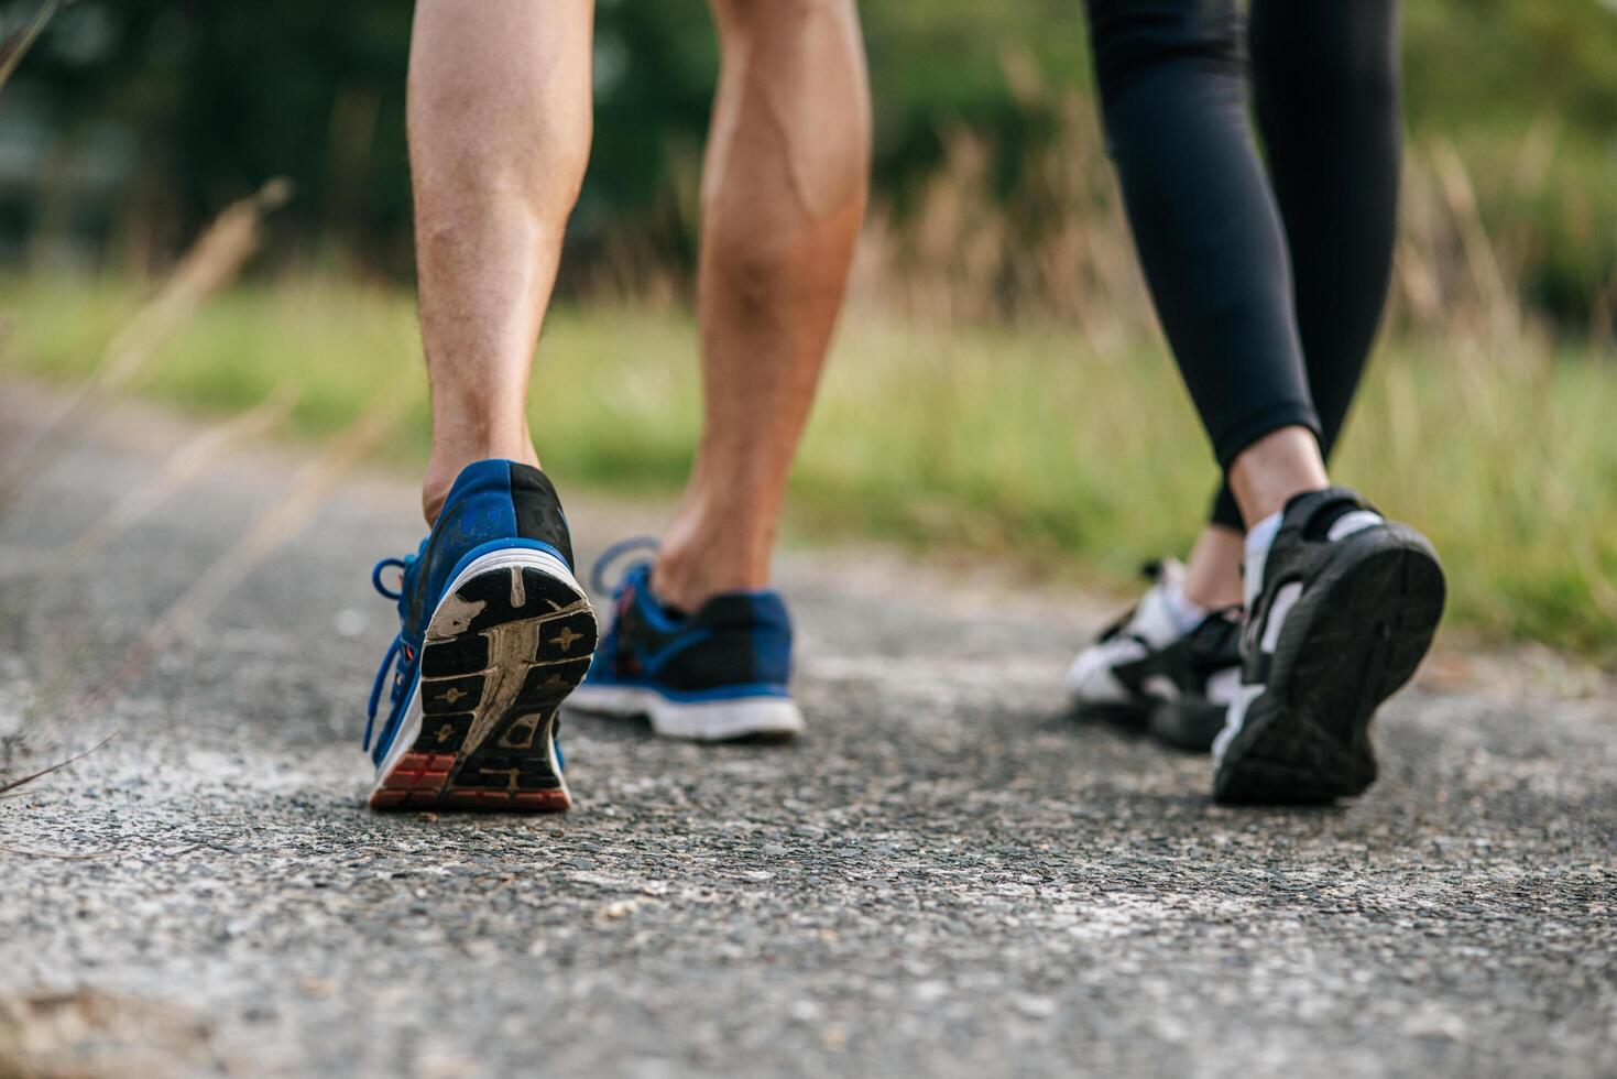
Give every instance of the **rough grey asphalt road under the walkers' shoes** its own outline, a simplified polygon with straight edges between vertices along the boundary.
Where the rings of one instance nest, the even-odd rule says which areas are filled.
[[[47,398],[0,393],[15,450]],[[0,801],[0,1074],[1617,1073],[1599,676],[1449,652],[1357,804],[1221,809],[1064,713],[1109,603],[797,550],[797,744],[574,717],[566,817],[375,815],[414,489],[348,477],[142,649],[304,463],[154,487],[192,437],[126,409],[0,524],[0,764],[118,733]],[[571,511],[585,555],[658,518]]]

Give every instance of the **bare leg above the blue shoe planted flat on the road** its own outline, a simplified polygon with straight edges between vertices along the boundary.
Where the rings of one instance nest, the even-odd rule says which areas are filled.
[[[852,0],[713,0],[723,68],[702,183],[705,416],[653,574],[694,611],[770,576],[868,191],[870,95]]]

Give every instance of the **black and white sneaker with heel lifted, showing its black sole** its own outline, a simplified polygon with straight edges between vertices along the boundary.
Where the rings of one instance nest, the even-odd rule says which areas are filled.
[[[1331,487],[1286,505],[1245,590],[1242,684],[1213,744],[1213,798],[1360,794],[1376,780],[1370,720],[1415,675],[1442,616],[1438,553]]]

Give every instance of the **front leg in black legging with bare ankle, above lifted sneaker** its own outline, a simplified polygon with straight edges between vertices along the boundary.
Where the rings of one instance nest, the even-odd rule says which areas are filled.
[[[1088,13],[1140,262],[1218,461],[1256,521],[1324,487],[1324,469],[1286,233],[1252,138],[1242,16],[1235,0],[1090,0]]]

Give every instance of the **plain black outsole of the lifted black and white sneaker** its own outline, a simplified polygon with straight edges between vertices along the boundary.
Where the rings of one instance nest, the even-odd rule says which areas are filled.
[[[1328,804],[1376,780],[1370,723],[1420,666],[1442,618],[1438,555],[1400,524],[1340,540],[1281,628],[1264,691],[1218,755],[1226,804]]]

